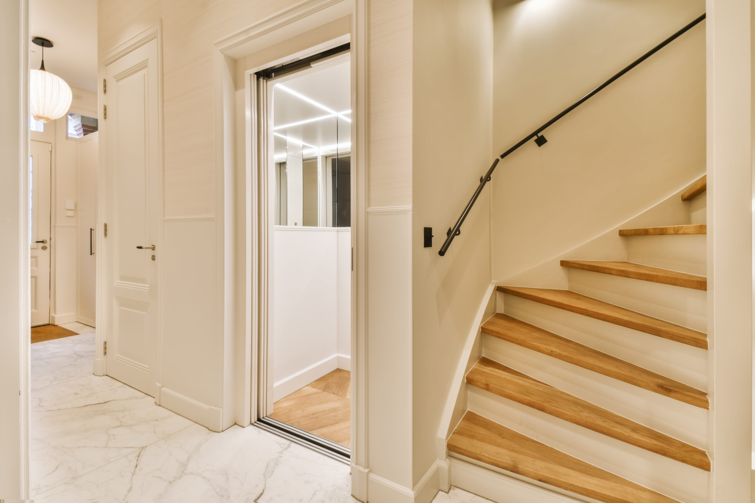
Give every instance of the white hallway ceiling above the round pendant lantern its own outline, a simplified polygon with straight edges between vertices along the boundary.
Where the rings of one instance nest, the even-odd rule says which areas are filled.
[[[39,68],[42,48],[31,38],[48,38],[45,69],[69,85],[97,90],[97,0],[30,0],[29,67]]]

